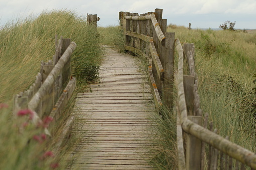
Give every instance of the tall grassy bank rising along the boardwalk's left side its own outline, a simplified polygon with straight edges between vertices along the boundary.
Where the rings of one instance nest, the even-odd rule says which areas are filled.
[[[43,12],[37,18],[6,24],[0,30],[1,169],[52,169],[57,167],[56,163],[59,169],[64,169],[63,159],[50,152],[54,137],[53,140],[48,136],[45,139],[38,136],[43,133],[41,128],[31,124],[24,126],[29,117],[12,119],[13,95],[34,82],[41,61],[52,59],[56,34],[71,38],[77,44],[72,55],[76,93],[97,77],[102,54],[99,39],[95,38],[94,30],[86,25],[84,18],[74,12]],[[40,142],[38,138],[34,139],[35,136]]]

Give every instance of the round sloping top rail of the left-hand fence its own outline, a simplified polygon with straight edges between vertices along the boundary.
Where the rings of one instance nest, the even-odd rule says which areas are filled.
[[[32,97],[30,102],[28,103],[28,108],[31,110],[36,110],[38,107],[38,104],[40,103],[41,98],[47,93],[47,90],[50,86],[53,85],[54,80],[57,78],[57,76],[60,74],[62,68],[64,67],[65,63],[69,60],[71,54],[76,48],[75,42],[71,42],[71,44],[68,46],[62,57],[59,59],[55,67],[52,69],[50,74],[47,76],[46,80],[40,87],[40,89],[37,91],[37,93]]]

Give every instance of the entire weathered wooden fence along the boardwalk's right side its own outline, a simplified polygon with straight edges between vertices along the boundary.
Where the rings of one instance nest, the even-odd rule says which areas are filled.
[[[178,63],[177,150],[179,169],[245,169],[256,168],[256,155],[207,127],[207,114],[202,118],[197,93],[193,44],[183,47],[174,33],[167,33],[167,20],[162,9],[146,14],[119,12],[120,26],[124,30],[125,50],[144,56],[149,61],[148,75],[157,112],[162,103],[172,110],[174,82],[174,50]],[[184,57],[187,65],[183,66]],[[184,75],[183,71],[189,73]],[[206,144],[209,146],[206,147]],[[186,148],[184,147],[186,146]]]

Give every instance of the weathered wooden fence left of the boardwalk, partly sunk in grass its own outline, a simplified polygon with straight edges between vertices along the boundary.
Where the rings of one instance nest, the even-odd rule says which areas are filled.
[[[37,120],[34,121],[51,116],[54,118],[53,123],[63,116],[63,109],[76,85],[76,79],[71,77],[71,55],[76,44],[70,39],[63,39],[62,36],[60,40],[55,36],[55,44],[53,61],[42,61],[35,82],[28,90],[14,96],[14,114],[21,109],[30,109],[36,114],[34,117]],[[74,117],[70,116],[64,128],[69,128],[73,120]]]

